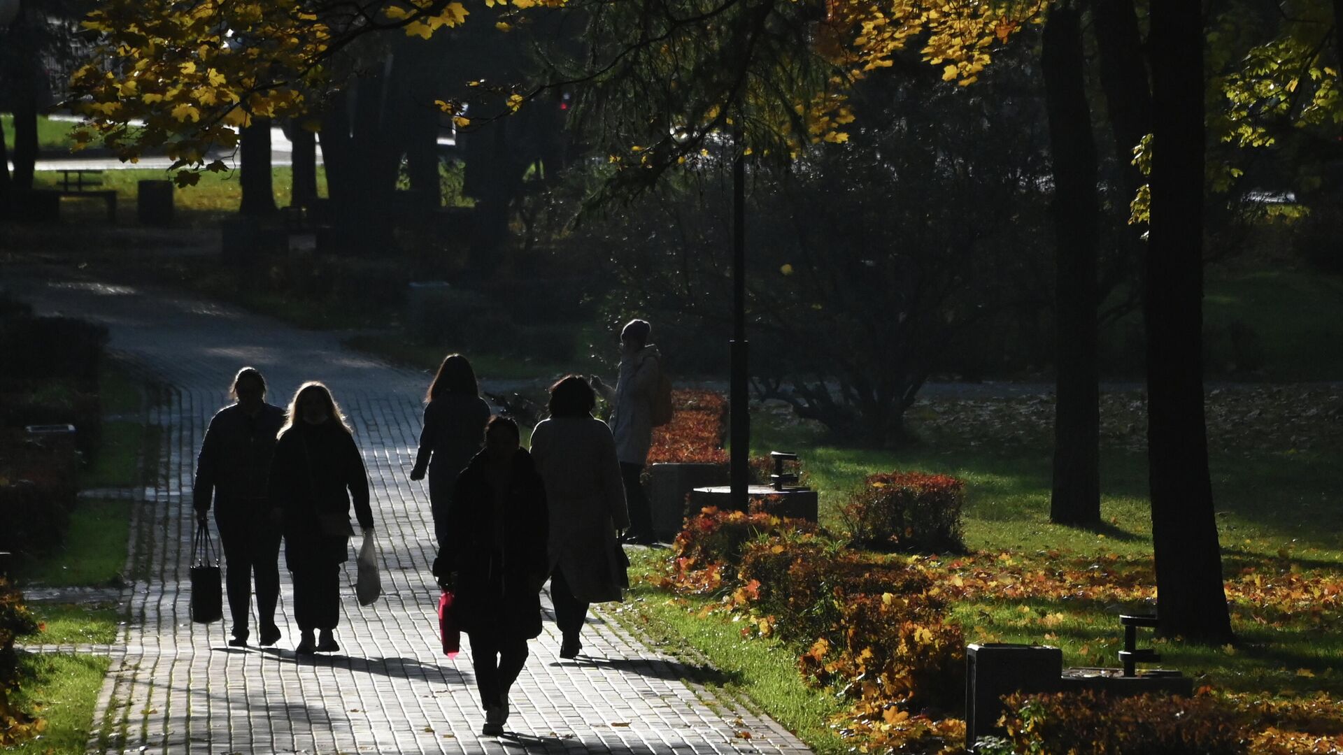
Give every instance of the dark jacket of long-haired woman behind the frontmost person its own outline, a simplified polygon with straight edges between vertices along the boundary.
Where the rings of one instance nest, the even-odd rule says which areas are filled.
[[[424,407],[424,430],[415,454],[415,472],[428,470],[428,500],[439,545],[457,476],[481,450],[489,420],[490,406],[470,394],[443,394]]]

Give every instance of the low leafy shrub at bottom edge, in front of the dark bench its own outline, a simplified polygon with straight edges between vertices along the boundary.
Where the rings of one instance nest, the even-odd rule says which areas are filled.
[[[1011,695],[1007,736],[1017,752],[1233,755],[1246,751],[1240,715],[1206,695]]]

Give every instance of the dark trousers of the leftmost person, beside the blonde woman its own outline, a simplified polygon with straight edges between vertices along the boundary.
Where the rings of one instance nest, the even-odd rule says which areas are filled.
[[[216,509],[218,510],[218,509]],[[215,516],[224,548],[224,584],[234,615],[234,637],[247,638],[252,574],[257,575],[257,617],[261,629],[275,625],[279,601],[279,528],[265,519]]]

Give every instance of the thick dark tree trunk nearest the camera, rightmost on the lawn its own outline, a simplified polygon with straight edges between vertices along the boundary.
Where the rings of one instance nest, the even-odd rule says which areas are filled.
[[[1151,5],[1154,163],[1146,259],[1147,443],[1160,631],[1232,639],[1203,414],[1203,24]]]

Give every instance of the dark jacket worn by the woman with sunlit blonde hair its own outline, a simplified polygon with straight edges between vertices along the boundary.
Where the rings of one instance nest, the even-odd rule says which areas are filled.
[[[279,437],[270,468],[271,505],[285,513],[285,563],[290,571],[349,559],[351,500],[360,527],[373,527],[368,473],[355,438],[336,420],[299,420]]]

